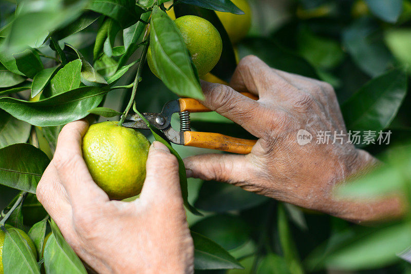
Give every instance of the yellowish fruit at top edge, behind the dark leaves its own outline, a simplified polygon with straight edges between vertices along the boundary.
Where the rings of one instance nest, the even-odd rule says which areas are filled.
[[[244,38],[251,27],[251,8],[247,0],[231,0],[244,14],[216,11],[218,18],[226,29],[231,43],[237,44]]]

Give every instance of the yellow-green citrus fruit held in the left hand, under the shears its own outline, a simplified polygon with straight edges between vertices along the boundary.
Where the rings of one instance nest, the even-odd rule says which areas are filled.
[[[83,158],[91,177],[110,199],[140,193],[150,142],[143,134],[118,122],[91,125],[83,137]]]

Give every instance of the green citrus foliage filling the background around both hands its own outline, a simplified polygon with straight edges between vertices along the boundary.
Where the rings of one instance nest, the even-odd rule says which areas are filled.
[[[202,97],[197,72],[163,11],[163,2],[0,2],[2,217],[27,231],[39,251],[46,231],[52,231],[45,258],[37,264],[20,234],[8,229],[3,251],[6,272],[40,273],[41,264],[50,273],[86,272],[34,195],[64,124],[87,115],[91,120],[118,120],[132,102],[133,80],[134,88],[139,85],[135,102],[140,112],[160,111],[177,94]],[[223,53],[212,72],[229,81],[235,55],[213,10],[241,11],[229,0],[175,4],[177,16],[202,16],[218,29]],[[389,145],[362,146],[386,164],[339,188],[337,194],[367,199],[400,191],[411,203],[411,95],[407,93],[411,1],[254,0],[250,4],[253,25],[235,45],[239,57],[254,54],[274,68],[330,83],[348,130],[392,132]],[[144,35],[148,22],[152,29]],[[145,64],[148,36],[161,80]],[[172,54],[179,58],[169,58]],[[29,101],[36,95],[40,101]],[[192,126],[250,138],[215,113],[193,114]],[[144,133],[154,139],[150,131]],[[182,158],[209,152],[174,148]],[[228,184],[187,181],[181,162],[180,181],[198,273],[411,272],[401,259],[411,246],[409,214],[372,227],[355,225]]]

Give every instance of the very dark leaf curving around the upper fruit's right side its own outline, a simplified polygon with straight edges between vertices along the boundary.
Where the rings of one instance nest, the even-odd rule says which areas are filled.
[[[220,79],[230,82],[231,76],[237,67],[235,60],[235,54],[233,45],[231,44],[230,37],[224,26],[222,25],[217,14],[213,10],[204,9],[201,7],[180,3],[174,7],[176,17],[184,15],[195,15],[207,19],[218,30],[222,41],[222,52],[220,60],[211,70],[211,73],[219,77]]]

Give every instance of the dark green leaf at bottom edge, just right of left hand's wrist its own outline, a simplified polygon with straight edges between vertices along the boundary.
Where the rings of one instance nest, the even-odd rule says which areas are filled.
[[[202,269],[233,269],[243,268],[228,251],[217,243],[202,236],[199,233],[191,232],[194,241],[194,268]]]

